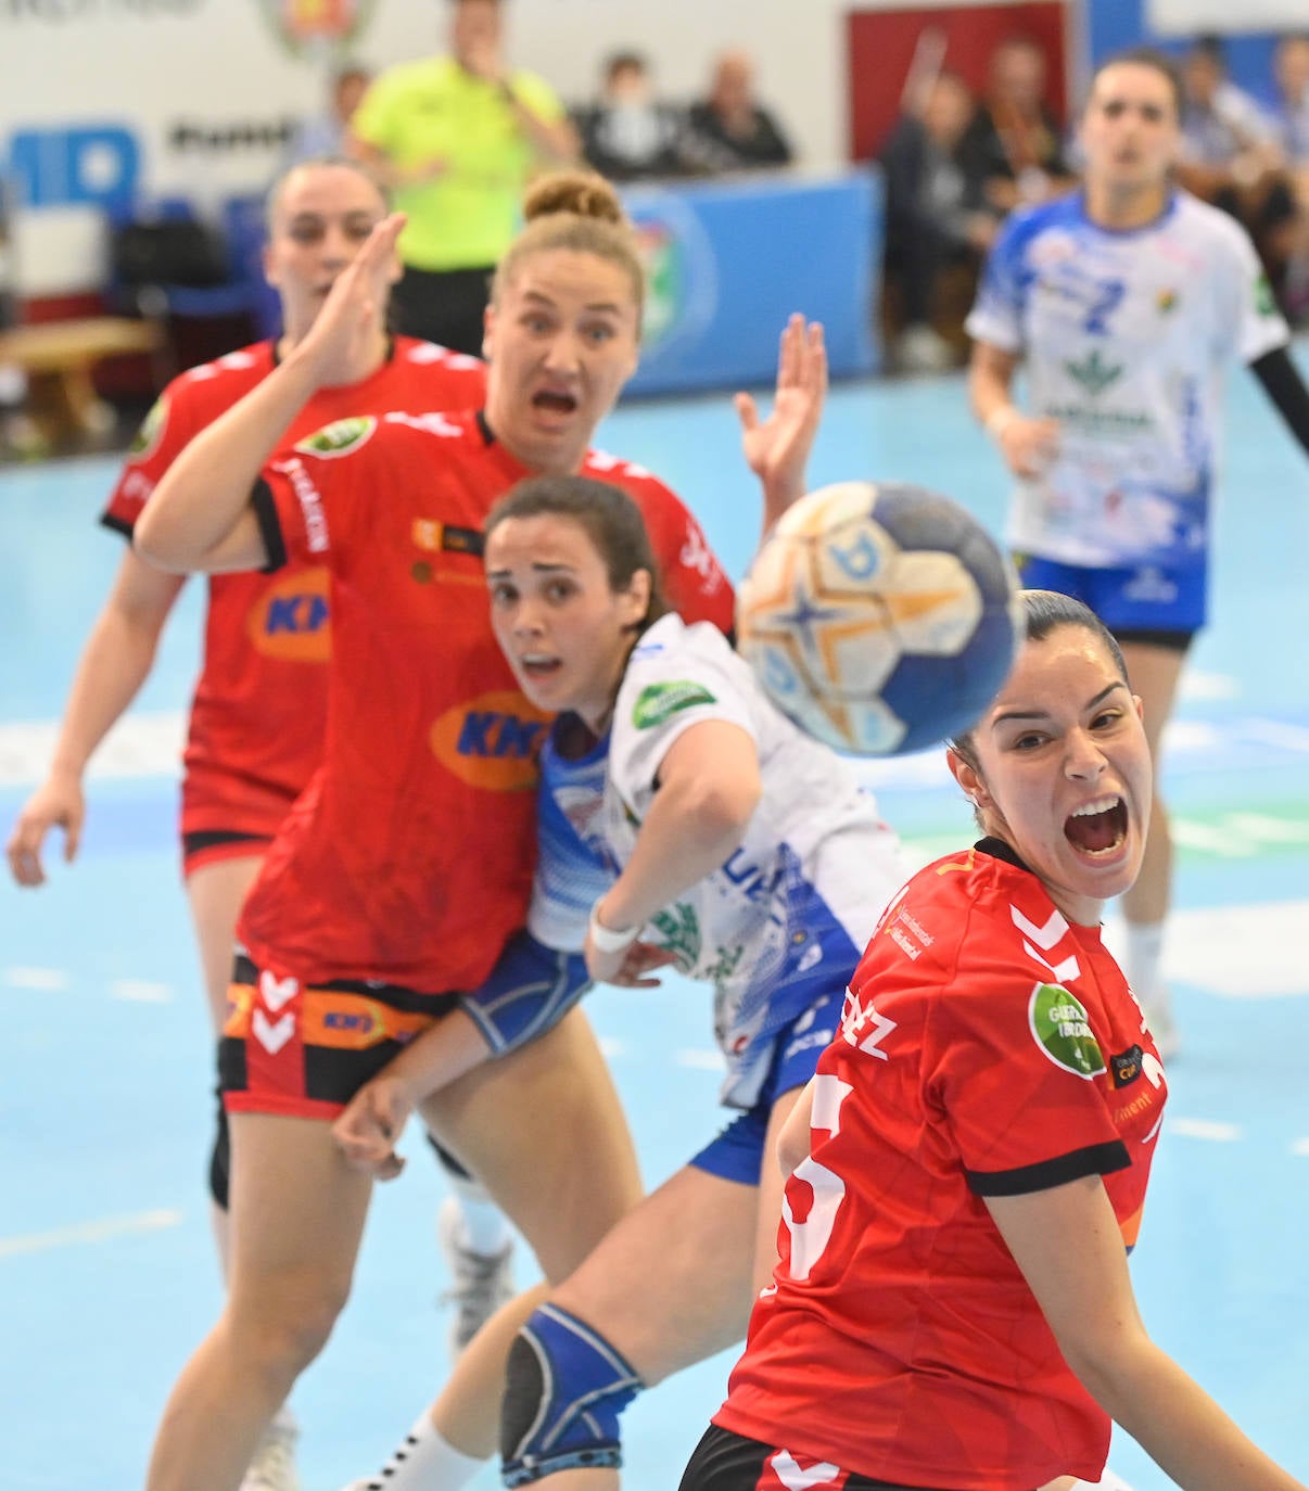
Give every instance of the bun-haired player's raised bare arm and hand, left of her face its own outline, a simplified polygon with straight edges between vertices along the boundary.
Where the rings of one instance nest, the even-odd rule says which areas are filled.
[[[286,361],[168,467],[136,525],[136,549],[152,565],[218,573],[268,562],[250,489],[307,400],[368,370],[401,227],[398,213],[377,224]]]

